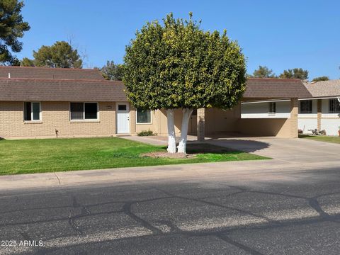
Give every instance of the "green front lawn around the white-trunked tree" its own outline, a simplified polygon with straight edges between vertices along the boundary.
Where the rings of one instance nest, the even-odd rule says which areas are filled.
[[[210,149],[210,152],[188,159],[140,156],[147,152],[165,150],[165,147],[146,145],[118,137],[1,140],[0,175],[267,159],[245,152],[221,150],[221,148],[220,152]],[[190,147],[188,152],[191,152]],[[195,149],[192,152],[197,153]]]

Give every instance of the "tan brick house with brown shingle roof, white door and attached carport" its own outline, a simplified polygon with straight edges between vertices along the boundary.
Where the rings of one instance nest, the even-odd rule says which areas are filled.
[[[0,67],[0,136],[86,137],[135,135],[152,130],[167,135],[166,112],[139,111],[128,103],[122,81],[106,81],[95,69]],[[297,137],[298,98],[311,98],[300,79],[249,79],[243,102],[285,100],[281,118],[241,118],[232,110],[194,111],[189,133],[239,132],[245,135]],[[181,131],[181,111],[175,128]]]

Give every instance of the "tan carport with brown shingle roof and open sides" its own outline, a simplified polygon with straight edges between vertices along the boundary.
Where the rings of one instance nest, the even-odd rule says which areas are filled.
[[[191,118],[191,135],[198,141],[205,136],[225,134],[254,137],[297,137],[298,98],[311,96],[300,79],[250,78],[242,102],[288,99],[289,114],[286,118],[241,118],[241,103],[232,110],[200,108]],[[268,109],[270,111],[270,109]]]

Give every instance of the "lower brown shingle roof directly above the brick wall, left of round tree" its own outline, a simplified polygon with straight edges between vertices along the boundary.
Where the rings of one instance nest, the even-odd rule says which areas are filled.
[[[122,81],[0,78],[0,101],[126,101]]]

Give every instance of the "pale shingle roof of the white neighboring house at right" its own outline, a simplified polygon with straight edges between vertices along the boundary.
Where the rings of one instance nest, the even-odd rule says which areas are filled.
[[[340,79],[305,84],[312,97],[340,96]]]

